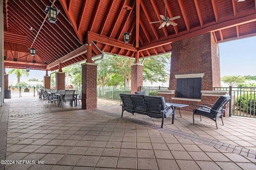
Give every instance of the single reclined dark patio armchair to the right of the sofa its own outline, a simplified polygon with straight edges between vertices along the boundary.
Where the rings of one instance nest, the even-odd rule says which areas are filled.
[[[223,112],[225,111],[224,106],[226,106],[226,104],[230,99],[231,99],[230,96],[224,95],[224,96],[220,96],[214,105],[213,104],[195,105],[196,108],[194,108],[193,110],[193,125],[195,124],[194,115],[200,115],[201,121],[202,121],[202,116],[208,117],[209,119],[215,121],[217,129],[218,129],[217,118],[221,117],[222,124],[224,125],[223,119],[222,119]],[[212,107],[208,107],[205,105],[209,105]]]

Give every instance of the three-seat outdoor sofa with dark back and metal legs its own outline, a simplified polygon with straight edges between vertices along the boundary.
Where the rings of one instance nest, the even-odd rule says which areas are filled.
[[[120,94],[122,101],[122,115],[124,111],[148,115],[153,118],[161,118],[163,128],[164,119],[172,115],[172,124],[174,121],[174,109],[172,105],[166,105],[162,96],[146,96],[138,94]]]

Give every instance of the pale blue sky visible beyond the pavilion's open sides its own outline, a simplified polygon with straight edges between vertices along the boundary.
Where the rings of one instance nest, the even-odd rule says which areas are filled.
[[[219,43],[219,46],[220,77],[256,75],[256,37]],[[6,68],[6,73],[9,70]],[[49,76],[50,73],[48,71]],[[30,70],[29,76],[22,76],[21,81],[27,81],[30,78],[36,78],[41,81],[44,79],[45,74],[45,70]],[[9,82],[16,79],[14,74],[9,75]]]

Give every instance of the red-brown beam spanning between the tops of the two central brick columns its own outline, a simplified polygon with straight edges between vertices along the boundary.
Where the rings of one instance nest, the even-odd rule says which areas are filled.
[[[103,44],[106,44],[106,45],[111,45],[111,46],[114,46],[114,47],[130,50],[130,51],[136,51],[136,48],[134,48],[130,45],[126,45],[124,43],[114,41],[114,40],[106,38],[106,37],[101,37],[100,35],[96,35],[94,33],[88,33],[88,36],[92,36],[92,41],[96,41],[96,42],[99,42],[99,43],[103,43]]]

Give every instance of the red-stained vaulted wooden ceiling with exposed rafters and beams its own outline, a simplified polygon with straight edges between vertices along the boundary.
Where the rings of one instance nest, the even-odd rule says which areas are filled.
[[[150,22],[161,20],[165,1],[166,16],[181,18],[158,29],[161,23]],[[3,0],[3,6],[4,65],[11,68],[52,71],[86,60],[88,37],[92,57],[103,51],[134,58],[139,51],[143,58],[170,53],[173,41],[206,32],[216,42],[256,35],[256,0]],[[60,10],[56,23],[47,20],[46,6]],[[128,43],[124,32],[131,33]]]

